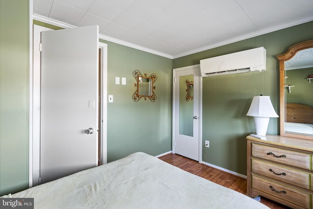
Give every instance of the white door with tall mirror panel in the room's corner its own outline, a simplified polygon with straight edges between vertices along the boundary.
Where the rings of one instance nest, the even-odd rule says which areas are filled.
[[[173,152],[199,161],[199,66],[174,69],[173,78]]]

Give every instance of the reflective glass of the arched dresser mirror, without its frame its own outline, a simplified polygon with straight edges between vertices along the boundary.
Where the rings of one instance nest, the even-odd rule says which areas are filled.
[[[313,74],[313,55],[299,62],[299,51],[291,60],[285,62],[285,132],[313,135],[313,83],[307,79]],[[292,65],[298,59],[297,68]],[[311,63],[310,63],[311,62]],[[292,67],[292,68],[291,68]],[[302,68],[307,67],[307,68]],[[291,69],[291,70],[290,70]]]

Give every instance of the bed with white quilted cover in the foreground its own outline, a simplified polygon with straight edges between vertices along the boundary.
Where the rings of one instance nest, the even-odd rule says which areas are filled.
[[[268,209],[142,152],[5,197],[34,198],[35,209]]]

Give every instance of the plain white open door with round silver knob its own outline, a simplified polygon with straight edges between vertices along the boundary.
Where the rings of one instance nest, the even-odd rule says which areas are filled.
[[[42,32],[40,183],[98,164],[98,50],[97,25]]]

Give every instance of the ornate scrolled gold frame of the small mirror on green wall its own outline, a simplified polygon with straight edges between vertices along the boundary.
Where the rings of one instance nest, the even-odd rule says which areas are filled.
[[[156,82],[157,76],[155,73],[152,73],[150,76],[148,76],[147,73],[144,75],[141,74],[139,70],[135,70],[133,72],[134,78],[136,79],[136,82],[134,86],[136,87],[136,91],[133,94],[133,99],[135,102],[139,101],[142,97],[144,97],[145,100],[149,98],[152,102],[156,101],[156,93],[153,91],[156,89],[154,86],[154,83]],[[151,79],[151,95],[140,95],[139,94],[139,83],[140,83],[140,78],[146,78],[146,79]]]

